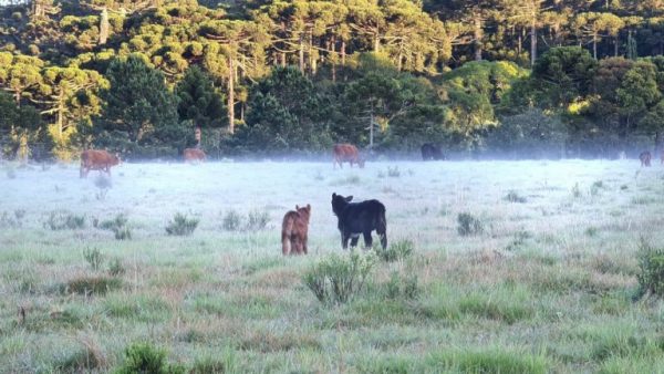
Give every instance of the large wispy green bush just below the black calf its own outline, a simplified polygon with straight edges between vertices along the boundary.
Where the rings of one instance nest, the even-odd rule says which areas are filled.
[[[372,253],[332,254],[307,271],[302,281],[320,302],[344,303],[362,291],[374,264]]]

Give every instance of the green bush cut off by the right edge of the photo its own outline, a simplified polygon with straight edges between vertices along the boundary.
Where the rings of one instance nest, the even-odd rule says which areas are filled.
[[[639,287],[642,295],[664,297],[664,248],[641,243],[639,251]]]

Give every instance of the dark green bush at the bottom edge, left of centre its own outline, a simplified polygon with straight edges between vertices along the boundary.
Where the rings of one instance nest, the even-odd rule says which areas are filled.
[[[149,343],[134,343],[125,350],[125,361],[116,374],[176,374],[185,373],[179,365],[166,362],[166,351],[154,347]]]

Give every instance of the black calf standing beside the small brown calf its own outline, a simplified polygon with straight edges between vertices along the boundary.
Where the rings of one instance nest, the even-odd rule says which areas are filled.
[[[387,221],[385,220],[385,206],[378,200],[365,200],[362,202],[351,202],[352,196],[343,197],[332,194],[332,211],[339,222],[341,232],[341,247],[357,246],[360,233],[364,236],[364,246],[372,247],[371,231],[376,230],[381,238],[383,249],[387,248]]]

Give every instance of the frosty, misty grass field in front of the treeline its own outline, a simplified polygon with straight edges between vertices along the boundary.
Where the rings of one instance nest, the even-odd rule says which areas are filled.
[[[662,373],[636,253],[664,246],[663,179],[637,160],[124,164],[111,183],[6,164],[0,371],[115,371],[148,343],[193,373]],[[347,257],[332,193],[383,201],[412,249],[369,258],[338,304],[302,280]],[[308,202],[310,253],[284,258],[283,214]],[[167,235],[176,214],[191,235]]]

